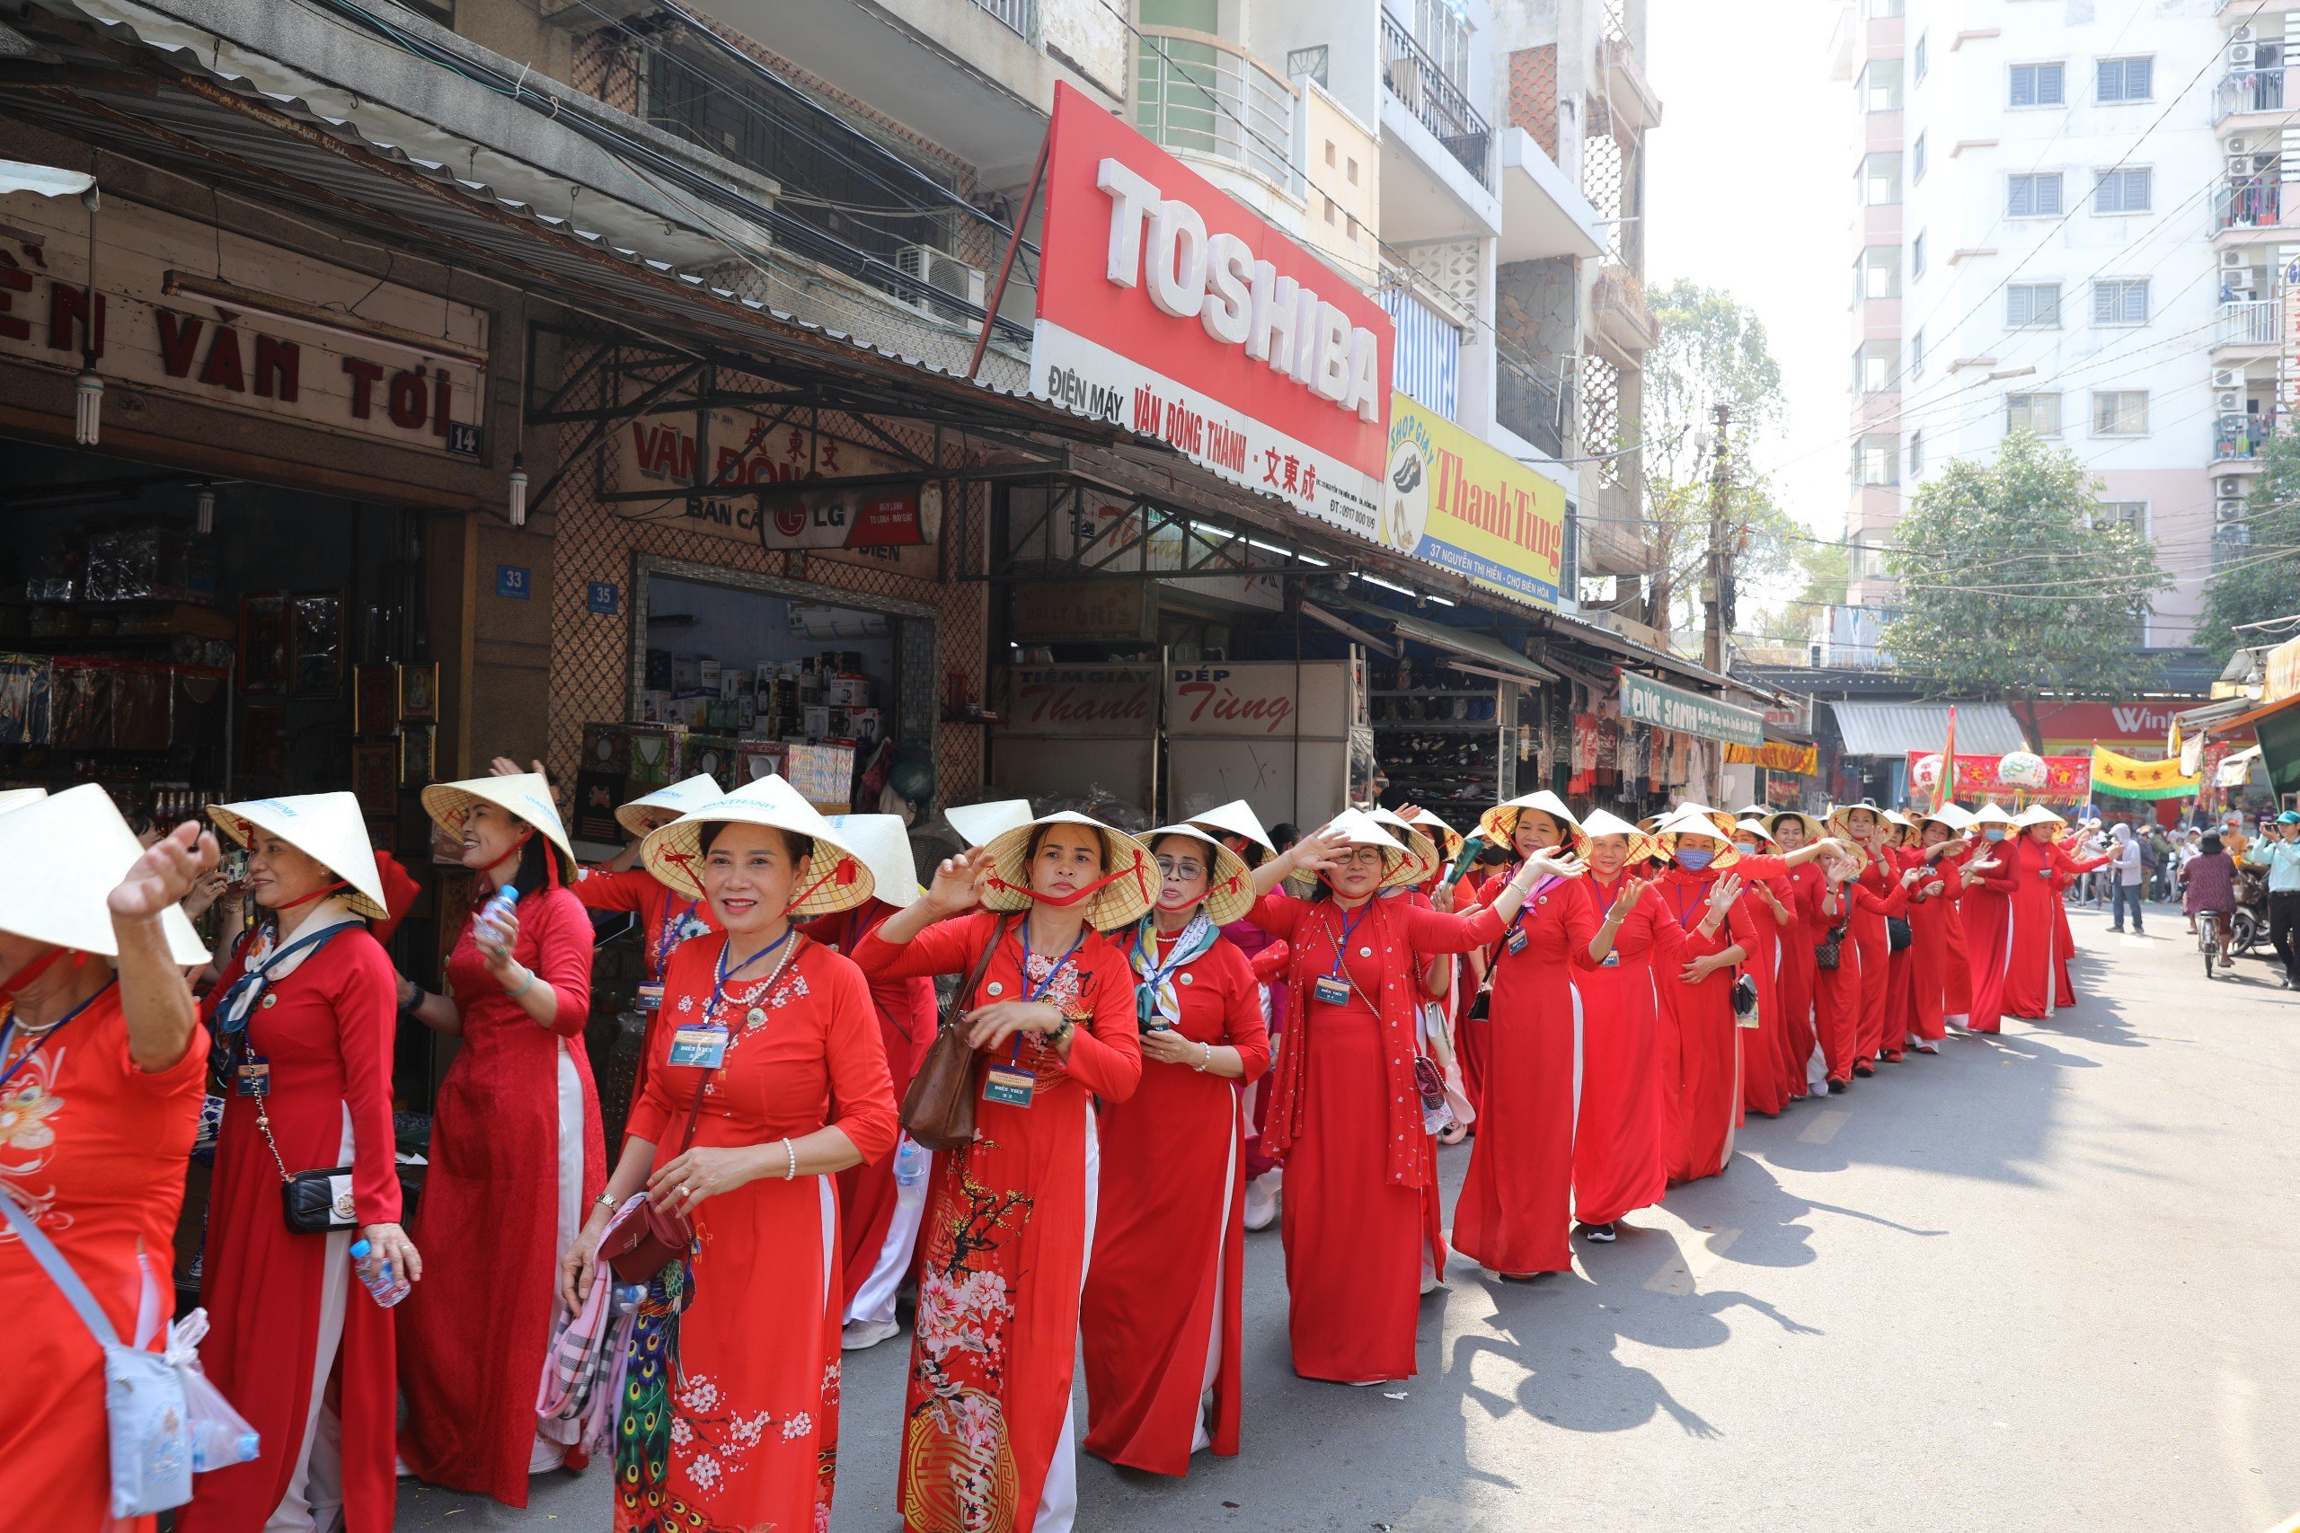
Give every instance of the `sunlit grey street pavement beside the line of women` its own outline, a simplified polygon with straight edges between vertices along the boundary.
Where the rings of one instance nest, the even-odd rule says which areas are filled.
[[[1293,1377],[1249,1237],[1244,1453],[1079,1466],[1081,1533],[2252,1531],[2300,1512],[2300,995],[2203,979],[2174,908],[2075,912],[2079,1004],[1750,1119],[1725,1177],[1529,1285],[1460,1262],[1424,1372]],[[1467,1147],[1444,1151],[1458,1188]],[[892,1533],[906,1338],[846,1358],[833,1528]],[[1079,1395],[1079,1420],[1086,1395]],[[603,1469],[513,1512],[612,1526]]]

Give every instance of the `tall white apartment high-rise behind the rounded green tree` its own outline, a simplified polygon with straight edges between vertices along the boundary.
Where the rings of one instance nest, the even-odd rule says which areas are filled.
[[[1854,545],[1831,662],[1874,657],[1909,496],[2031,430],[2174,586],[2134,634],[2187,641],[2279,414],[2284,7],[1858,0],[1849,87]],[[2275,16],[2268,16],[2275,11]]]

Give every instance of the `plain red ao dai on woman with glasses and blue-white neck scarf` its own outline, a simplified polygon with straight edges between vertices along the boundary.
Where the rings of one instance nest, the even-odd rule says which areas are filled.
[[[1173,938],[1155,938],[1159,963]],[[1233,1046],[1244,1085],[1270,1069],[1260,984],[1219,938],[1171,977],[1191,1043]],[[1210,1446],[1237,1453],[1244,1317],[1244,1117],[1240,1083],[1143,1060],[1102,1110],[1102,1214],[1086,1269],[1086,1450],[1152,1473],[1189,1473]],[[1201,1409],[1203,1404],[1203,1409]]]

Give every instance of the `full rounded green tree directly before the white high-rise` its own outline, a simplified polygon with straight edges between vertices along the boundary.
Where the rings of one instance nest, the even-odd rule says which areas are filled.
[[[1996,462],[1953,460],[1916,492],[1886,570],[1900,618],[1884,648],[1946,694],[2015,703],[2042,745],[2045,694],[2118,696],[2155,667],[2134,632],[2171,579],[2137,529],[2104,522],[2075,453],[2012,432]]]

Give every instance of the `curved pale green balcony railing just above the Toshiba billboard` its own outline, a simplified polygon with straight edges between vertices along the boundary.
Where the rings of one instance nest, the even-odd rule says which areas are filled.
[[[1152,142],[1228,161],[1300,198],[1302,172],[1290,159],[1293,113],[1295,87],[1230,39],[1141,28],[1134,126]]]

